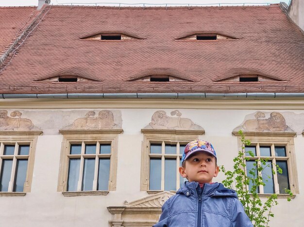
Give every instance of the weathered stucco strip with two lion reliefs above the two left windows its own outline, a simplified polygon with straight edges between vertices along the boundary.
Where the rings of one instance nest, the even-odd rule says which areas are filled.
[[[120,110],[70,109],[27,110],[0,109],[0,131],[42,130],[44,135],[58,135],[60,129],[121,129]]]

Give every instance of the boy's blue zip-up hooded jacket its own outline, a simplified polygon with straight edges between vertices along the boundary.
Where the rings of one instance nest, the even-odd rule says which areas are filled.
[[[185,182],[153,227],[253,227],[236,192],[221,183]]]

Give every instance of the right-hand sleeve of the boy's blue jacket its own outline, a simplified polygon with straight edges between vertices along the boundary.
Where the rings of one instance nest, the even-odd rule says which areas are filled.
[[[235,199],[235,206],[232,213],[233,227],[253,227],[252,222],[244,211],[242,203],[238,199]]]

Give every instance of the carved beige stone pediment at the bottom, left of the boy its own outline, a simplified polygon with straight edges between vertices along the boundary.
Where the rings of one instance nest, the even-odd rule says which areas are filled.
[[[165,191],[125,202],[121,207],[107,207],[112,214],[109,224],[111,227],[151,227],[159,220],[162,205],[173,195]]]

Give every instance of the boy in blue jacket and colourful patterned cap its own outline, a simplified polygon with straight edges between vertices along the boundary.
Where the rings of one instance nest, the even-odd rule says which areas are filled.
[[[165,202],[153,227],[253,227],[236,192],[212,183],[219,166],[209,142],[188,143],[179,172],[188,182]]]

